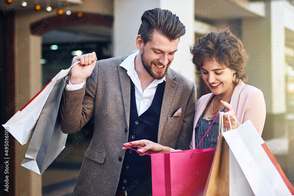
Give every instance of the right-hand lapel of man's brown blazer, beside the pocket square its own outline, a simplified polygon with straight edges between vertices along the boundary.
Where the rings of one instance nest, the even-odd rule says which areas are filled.
[[[166,84],[164,87],[162,105],[161,105],[161,112],[159,118],[159,125],[158,125],[158,138],[157,141],[159,143],[161,138],[161,133],[163,131],[163,127],[167,121],[168,111],[171,108],[171,103],[173,102],[173,98],[175,97],[176,89],[178,87],[178,83],[174,81],[176,76],[168,69],[166,71]]]

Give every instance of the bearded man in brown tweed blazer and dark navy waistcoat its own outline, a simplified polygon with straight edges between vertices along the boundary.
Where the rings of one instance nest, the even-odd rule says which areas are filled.
[[[74,133],[95,118],[73,195],[151,195],[151,158],[122,150],[128,141],[189,149],[196,87],[168,68],[185,26],[159,8],[141,20],[138,52],[97,62],[94,52],[73,59],[80,63],[64,88],[61,128]]]

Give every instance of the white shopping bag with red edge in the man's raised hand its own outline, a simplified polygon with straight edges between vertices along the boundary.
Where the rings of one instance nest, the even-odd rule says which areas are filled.
[[[70,68],[61,70],[41,91],[39,91],[39,93],[26,103],[24,107],[2,125],[21,145],[30,142],[41,111],[56,81],[68,75],[71,68],[79,62],[80,61],[74,61]]]

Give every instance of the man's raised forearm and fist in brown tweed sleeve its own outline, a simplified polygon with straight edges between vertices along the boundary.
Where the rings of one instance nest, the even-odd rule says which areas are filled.
[[[65,83],[61,98],[60,124],[63,133],[80,130],[90,120],[94,110],[97,87],[96,53],[75,56],[73,61],[76,60],[80,63],[71,68],[71,76]],[[86,80],[86,84],[78,86]]]

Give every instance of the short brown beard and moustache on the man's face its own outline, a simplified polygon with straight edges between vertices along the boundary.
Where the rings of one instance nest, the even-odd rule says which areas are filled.
[[[163,66],[163,64],[156,63],[155,61],[151,61],[150,63],[148,63],[147,60],[145,59],[144,49],[143,49],[142,54],[141,54],[141,61],[142,61],[142,64],[143,64],[145,70],[149,73],[149,75],[152,78],[157,79],[157,80],[160,80],[165,76],[166,71],[168,69],[168,66],[171,64],[171,62],[168,61],[168,64],[166,65],[167,68],[166,68],[165,71],[164,70],[160,71],[160,70],[157,70],[156,68],[155,68],[154,71],[152,71],[153,64],[159,65],[159,66]],[[163,71],[164,71],[164,73],[163,73]]]

